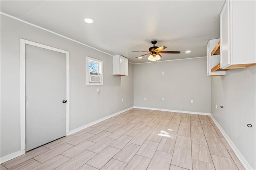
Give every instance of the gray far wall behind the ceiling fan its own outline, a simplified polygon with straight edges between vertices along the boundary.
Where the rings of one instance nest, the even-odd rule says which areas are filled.
[[[206,57],[134,64],[137,107],[210,113],[210,89]]]

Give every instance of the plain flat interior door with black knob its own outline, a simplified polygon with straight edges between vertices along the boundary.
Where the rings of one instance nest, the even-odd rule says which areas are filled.
[[[66,136],[66,54],[25,46],[26,151]]]

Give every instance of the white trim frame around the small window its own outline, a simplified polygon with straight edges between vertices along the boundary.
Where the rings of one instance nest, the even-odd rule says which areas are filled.
[[[89,82],[89,68],[88,68],[89,60],[100,63],[99,68],[98,68],[99,73],[101,74],[101,82],[100,83],[90,83]],[[102,60],[86,56],[86,85],[88,85],[88,86],[103,85],[103,61]]]

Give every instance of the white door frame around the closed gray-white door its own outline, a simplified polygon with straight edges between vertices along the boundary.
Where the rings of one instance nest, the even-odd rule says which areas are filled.
[[[60,53],[66,54],[66,136],[69,132],[70,128],[70,78],[69,78],[69,51],[65,51],[62,49],[58,49],[55,47],[51,47],[48,45],[28,41],[20,38],[20,150],[24,150],[26,148],[26,96],[25,96],[25,45],[32,45],[35,47],[40,47],[44,49],[49,49],[52,51],[57,51]]]

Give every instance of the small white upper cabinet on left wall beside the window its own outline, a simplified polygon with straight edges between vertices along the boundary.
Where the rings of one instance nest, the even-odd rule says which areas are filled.
[[[113,75],[128,75],[128,59],[122,55],[113,55]]]

